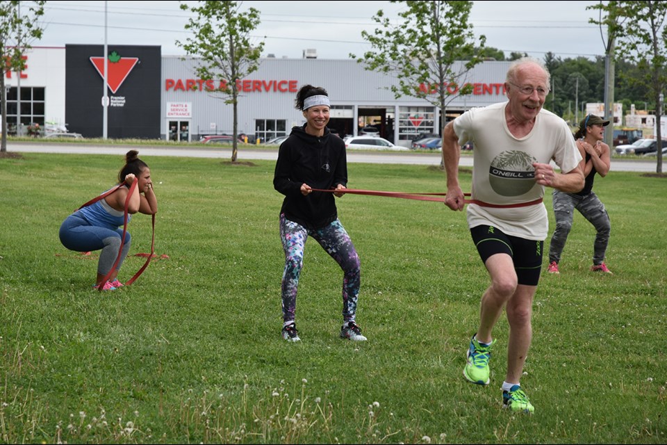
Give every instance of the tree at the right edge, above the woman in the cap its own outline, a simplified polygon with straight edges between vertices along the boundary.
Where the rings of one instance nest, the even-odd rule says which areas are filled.
[[[616,58],[629,60],[639,68],[635,83],[644,86],[646,99],[655,101],[655,136],[657,138],[656,172],[662,172],[662,131],[660,121],[663,108],[663,92],[667,84],[667,2],[665,1],[609,1],[588,6],[587,9],[606,13],[599,20],[589,22],[604,24],[610,38],[616,39]]]

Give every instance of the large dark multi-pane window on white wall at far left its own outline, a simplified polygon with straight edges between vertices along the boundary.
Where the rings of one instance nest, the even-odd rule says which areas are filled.
[[[17,133],[19,101],[18,88],[11,87],[7,93],[7,133]],[[21,123],[28,133],[44,131],[44,87],[21,88]]]

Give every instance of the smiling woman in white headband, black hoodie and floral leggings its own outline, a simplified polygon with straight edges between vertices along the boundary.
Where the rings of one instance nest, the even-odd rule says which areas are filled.
[[[355,323],[361,272],[359,256],[345,228],[338,220],[334,195],[343,196],[347,185],[345,143],[327,128],[329,96],[324,88],[306,85],[297,92],[296,108],[306,123],[293,127],[281,145],[273,179],[274,188],[285,195],[280,210],[280,238],[285,251],[281,282],[283,309],[282,337],[299,341],[295,309],[299,275],[308,236],[318,243],[343,269],[343,326],[340,337],[363,341]],[[335,190],[334,193],[318,192]]]

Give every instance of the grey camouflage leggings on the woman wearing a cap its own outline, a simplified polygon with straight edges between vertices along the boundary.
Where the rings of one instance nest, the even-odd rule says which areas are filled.
[[[556,263],[559,263],[561,261],[565,242],[568,239],[568,234],[570,234],[570,229],[572,229],[574,210],[577,209],[598,232],[595,234],[595,244],[593,245],[593,264],[602,264],[604,254],[607,252],[607,244],[609,244],[611,223],[600,198],[592,191],[581,197],[557,190],[554,190],[553,197],[556,229],[549,247],[549,262],[556,261]]]

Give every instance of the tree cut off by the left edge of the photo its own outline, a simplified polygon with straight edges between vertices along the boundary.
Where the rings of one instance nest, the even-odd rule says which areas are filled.
[[[33,40],[42,38],[44,29],[38,19],[44,15],[45,1],[0,1],[0,52],[4,63],[0,63],[0,112],[2,113],[2,136],[0,152],[7,152],[7,92],[5,79],[8,72],[26,69],[24,51]],[[23,12],[21,5],[24,5]],[[26,8],[26,6],[28,6]],[[21,124],[21,122],[17,122]]]

